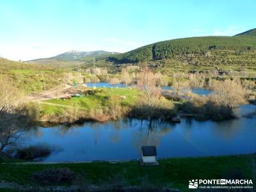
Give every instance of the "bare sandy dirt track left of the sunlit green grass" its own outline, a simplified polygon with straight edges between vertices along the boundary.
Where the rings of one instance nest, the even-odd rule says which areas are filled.
[[[49,100],[49,99],[56,99],[60,97],[67,97],[70,96],[70,93],[66,93],[65,91],[71,88],[72,86],[68,84],[61,84],[56,88],[51,90],[47,90],[41,93],[31,93],[25,97],[26,102],[33,102],[33,101],[40,101],[40,100]]]

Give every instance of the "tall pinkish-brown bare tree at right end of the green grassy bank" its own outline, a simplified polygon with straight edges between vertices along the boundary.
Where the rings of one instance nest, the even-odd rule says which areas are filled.
[[[154,106],[161,95],[161,88],[156,85],[157,76],[148,68],[138,74],[137,85],[144,93],[148,106]]]

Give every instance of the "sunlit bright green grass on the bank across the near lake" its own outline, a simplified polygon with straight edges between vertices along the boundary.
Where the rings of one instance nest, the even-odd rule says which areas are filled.
[[[85,97],[72,97],[68,100],[62,99],[51,99],[45,100],[44,102],[49,102],[53,104],[61,104],[65,106],[72,106],[76,104],[79,108],[82,109],[93,109],[93,108],[104,108],[107,105],[109,97],[117,97],[120,100],[120,104],[124,106],[131,106],[138,101],[140,98],[141,92],[136,89],[128,88],[102,88],[103,92],[95,93],[94,95],[88,95]],[[124,96],[125,99],[121,99],[120,96]],[[42,113],[61,113],[63,110],[67,109],[60,106],[52,106],[47,104],[41,105]]]

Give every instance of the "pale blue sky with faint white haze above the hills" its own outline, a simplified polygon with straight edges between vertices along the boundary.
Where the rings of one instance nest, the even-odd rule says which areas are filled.
[[[188,36],[256,28],[255,0],[0,0],[0,56],[47,58],[70,50],[126,52]]]

